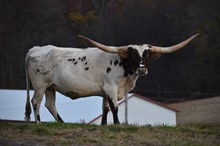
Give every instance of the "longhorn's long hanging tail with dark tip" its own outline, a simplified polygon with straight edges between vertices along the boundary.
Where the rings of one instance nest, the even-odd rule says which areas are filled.
[[[25,121],[31,120],[31,104],[30,104],[30,85],[29,85],[29,76],[27,65],[25,63],[25,72],[26,72],[26,89],[27,89],[27,98],[26,98],[26,106],[25,106]]]

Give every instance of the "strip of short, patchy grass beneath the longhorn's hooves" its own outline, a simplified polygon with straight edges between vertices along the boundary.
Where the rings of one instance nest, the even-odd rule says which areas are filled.
[[[0,123],[0,141],[9,145],[220,145],[220,125],[135,126]]]

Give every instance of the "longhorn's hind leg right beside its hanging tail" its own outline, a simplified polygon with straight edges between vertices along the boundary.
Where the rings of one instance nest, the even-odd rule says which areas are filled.
[[[34,96],[31,100],[32,106],[33,106],[33,109],[34,109],[34,117],[35,117],[36,123],[40,123],[39,110],[40,110],[40,104],[41,104],[43,96],[44,96],[44,92],[45,92],[44,88],[40,88],[38,90],[35,90],[34,91]]]

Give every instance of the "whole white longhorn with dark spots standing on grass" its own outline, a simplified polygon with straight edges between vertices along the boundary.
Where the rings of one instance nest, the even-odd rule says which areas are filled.
[[[140,75],[147,74],[147,59],[159,58],[161,53],[172,53],[187,45],[198,34],[171,46],[148,44],[121,47],[105,46],[87,37],[95,48],[62,48],[56,46],[33,47],[25,58],[27,101],[25,119],[30,120],[29,78],[34,88],[32,106],[35,121],[40,123],[39,108],[46,95],[45,106],[54,118],[63,122],[55,105],[55,92],[71,99],[88,96],[103,97],[102,124],[107,124],[109,107],[115,124],[119,124],[117,100],[122,99],[135,86]]]

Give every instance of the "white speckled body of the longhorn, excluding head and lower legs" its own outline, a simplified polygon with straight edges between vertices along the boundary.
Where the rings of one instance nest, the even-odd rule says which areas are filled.
[[[86,59],[81,61],[85,56]],[[114,94],[117,96],[114,98],[120,100],[135,86],[137,75],[124,77],[123,67],[114,65],[115,60],[120,62],[119,55],[97,48],[76,49],[48,45],[30,49],[26,66],[34,89],[53,85],[57,91],[72,99]],[[111,69],[109,73],[108,67]]]

